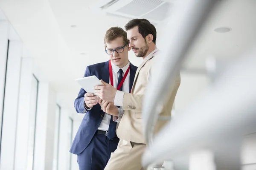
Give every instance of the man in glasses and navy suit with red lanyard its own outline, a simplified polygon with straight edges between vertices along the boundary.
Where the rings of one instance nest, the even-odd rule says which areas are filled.
[[[110,60],[87,66],[84,77],[95,75],[119,91],[129,93],[137,67],[128,59],[131,48],[127,34],[122,28],[111,27],[105,34],[104,43]],[[103,170],[119,142],[116,136],[118,123],[113,121],[113,116],[116,115],[102,111],[99,97],[87,93],[83,88],[79,91],[74,106],[78,113],[85,115],[70,152],[77,155],[80,170]],[[113,109],[117,113],[122,112],[122,108]]]

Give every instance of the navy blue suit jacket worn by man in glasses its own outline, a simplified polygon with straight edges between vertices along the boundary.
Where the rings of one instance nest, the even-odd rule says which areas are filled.
[[[102,79],[104,82],[109,83],[108,63],[109,61],[87,66],[84,77],[95,75],[99,79]],[[136,70],[137,67],[132,65],[130,62],[130,91],[134,82]],[[74,105],[77,113],[86,113],[70,148],[70,152],[74,154],[81,153],[88,146],[105,114],[101,110],[99,104],[94,105],[91,110],[86,110],[84,108],[85,93],[87,92],[81,88]]]

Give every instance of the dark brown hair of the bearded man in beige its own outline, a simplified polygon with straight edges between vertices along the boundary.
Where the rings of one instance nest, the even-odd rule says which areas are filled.
[[[142,35],[142,37],[145,39],[145,37],[148,34],[153,35],[153,42],[156,44],[157,40],[157,30],[154,27],[153,24],[151,24],[148,20],[146,19],[133,19],[130,20],[126,25],[125,25],[125,30],[128,31],[131,28],[134,28],[138,26],[139,33]]]

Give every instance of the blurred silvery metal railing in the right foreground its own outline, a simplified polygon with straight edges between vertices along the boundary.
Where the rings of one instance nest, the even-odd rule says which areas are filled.
[[[153,135],[154,125],[159,119],[156,106],[166,99],[165,89],[175,81],[187,51],[216,1],[180,0],[172,9],[172,17],[165,30],[168,50],[163,51],[156,64],[157,68],[164,69],[152,73],[143,102],[143,132],[148,143],[143,155],[144,167],[166,160],[174,161],[182,154],[207,148],[219,157],[229,152],[230,158],[225,158],[225,163],[235,170],[239,166],[236,147],[239,147],[242,135],[256,129],[254,50],[230,65],[191,108],[176,115],[157,136]]]

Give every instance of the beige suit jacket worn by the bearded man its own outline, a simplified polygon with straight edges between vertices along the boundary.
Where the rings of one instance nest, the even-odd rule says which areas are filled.
[[[159,53],[153,54],[151,57],[144,59],[143,63],[137,69],[131,94],[125,93],[123,98],[123,110],[125,111],[117,129],[117,136],[120,139],[145,144],[142,127],[142,107],[143,97],[145,94],[148,78],[150,76],[151,66],[156,59],[161,59]],[[168,91],[168,97],[160,112],[160,116],[171,116],[173,102],[180,86],[180,74],[177,75],[173,85],[173,90]],[[172,87],[170,87],[172,89]],[[155,126],[155,133],[166,125],[167,120],[159,120]]]

